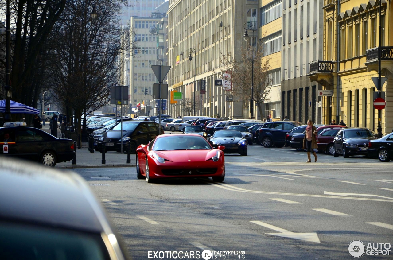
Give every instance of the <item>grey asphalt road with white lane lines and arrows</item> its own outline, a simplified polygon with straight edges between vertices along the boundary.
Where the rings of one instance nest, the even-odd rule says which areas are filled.
[[[305,163],[306,153],[290,148],[248,149],[247,157],[225,156],[224,183],[148,184],[135,168],[74,171],[92,185],[136,260],[148,251],[204,249],[245,253],[215,259],[352,259],[353,240],[393,244],[393,162],[318,155]]]

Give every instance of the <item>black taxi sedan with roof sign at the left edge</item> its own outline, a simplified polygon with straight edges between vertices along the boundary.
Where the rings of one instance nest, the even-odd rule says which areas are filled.
[[[20,125],[26,125],[24,122]],[[56,163],[71,161],[74,157],[71,139],[58,139],[40,129],[26,126],[0,128],[0,156],[38,161],[54,167]]]

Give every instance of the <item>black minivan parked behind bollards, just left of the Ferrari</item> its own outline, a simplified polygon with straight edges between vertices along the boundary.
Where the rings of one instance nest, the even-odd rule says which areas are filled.
[[[118,123],[112,130],[101,135],[97,142],[99,151],[105,142],[106,151],[121,151],[121,139],[123,139],[123,151],[127,151],[127,143],[131,142],[131,153],[135,153],[139,145],[147,145],[158,135],[160,125],[151,121],[132,120],[123,122],[123,136],[121,136],[121,125]],[[161,134],[164,134],[161,131]]]

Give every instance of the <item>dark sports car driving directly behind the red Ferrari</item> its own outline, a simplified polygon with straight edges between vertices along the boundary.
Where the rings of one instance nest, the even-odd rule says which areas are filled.
[[[217,130],[213,136],[208,135],[209,143],[217,148],[219,145],[225,146],[225,154],[241,154],[247,156],[247,140],[240,131]]]

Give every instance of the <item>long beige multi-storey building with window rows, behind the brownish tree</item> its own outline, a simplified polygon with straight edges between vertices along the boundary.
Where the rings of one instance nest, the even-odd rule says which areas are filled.
[[[215,86],[215,80],[222,79],[230,67],[222,62],[222,55],[228,60],[241,60],[240,48],[247,44],[242,39],[243,24],[254,22],[257,27],[257,7],[258,2],[251,0],[169,0],[168,65],[172,66],[168,73],[169,115],[188,115],[182,104],[193,101],[195,66],[195,115],[249,117],[245,106],[248,101],[226,101],[228,91]],[[191,61],[190,48],[196,52]],[[201,80],[206,81],[205,94],[200,92]],[[182,92],[183,100],[173,101],[173,91]]]

